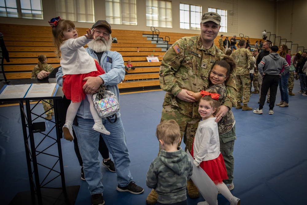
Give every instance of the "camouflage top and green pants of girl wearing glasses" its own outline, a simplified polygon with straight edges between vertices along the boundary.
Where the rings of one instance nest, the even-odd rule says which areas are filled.
[[[209,93],[218,93],[220,105],[224,103],[227,98],[226,86],[225,83],[219,85],[212,85],[206,91]],[[235,117],[232,114],[231,109],[223,116],[223,118],[217,123],[219,129],[220,137],[220,151],[223,156],[225,167],[227,171],[228,179],[223,180],[225,184],[231,184],[233,180],[233,169],[234,169],[234,157],[233,147],[235,140]]]

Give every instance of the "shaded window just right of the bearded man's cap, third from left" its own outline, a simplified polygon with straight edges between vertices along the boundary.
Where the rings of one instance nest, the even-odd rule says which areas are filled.
[[[111,24],[137,25],[136,0],[106,0],[106,20]]]

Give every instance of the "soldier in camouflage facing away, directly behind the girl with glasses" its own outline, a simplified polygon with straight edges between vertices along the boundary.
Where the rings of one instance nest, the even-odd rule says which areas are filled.
[[[252,110],[252,108],[247,106],[250,99],[250,88],[251,88],[251,78],[249,75],[250,69],[254,68],[254,61],[251,52],[246,49],[246,41],[241,39],[238,43],[239,49],[231,53],[236,61],[237,67],[235,71],[235,85],[237,88],[237,107],[236,109],[242,110]],[[241,97],[243,95],[243,106],[241,105]]]

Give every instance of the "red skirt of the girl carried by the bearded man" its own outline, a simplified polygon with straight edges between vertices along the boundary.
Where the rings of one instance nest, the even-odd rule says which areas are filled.
[[[80,102],[85,98],[85,93],[83,91],[83,85],[86,81],[83,81],[85,77],[96,77],[102,75],[106,72],[100,67],[100,65],[95,61],[97,70],[90,73],[83,74],[69,74],[63,76],[63,93],[67,99],[72,102]]]

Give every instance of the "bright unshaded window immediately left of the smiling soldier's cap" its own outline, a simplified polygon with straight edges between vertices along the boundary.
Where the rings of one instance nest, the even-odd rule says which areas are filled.
[[[180,28],[200,30],[201,6],[180,4]]]

